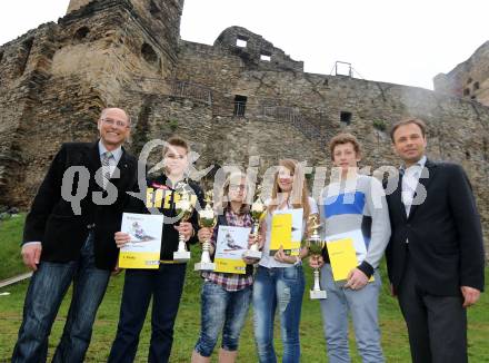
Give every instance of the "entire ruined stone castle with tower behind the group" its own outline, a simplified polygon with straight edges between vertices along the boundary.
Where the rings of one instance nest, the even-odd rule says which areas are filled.
[[[489,236],[489,43],[430,91],[305,72],[240,27],[212,46],[186,41],[182,11],[183,0],[71,0],[57,23],[0,46],[0,205],[28,207],[61,144],[96,139],[107,106],[132,116],[136,154],[177,133],[201,168],[259,156],[263,170],[283,157],[329,167],[339,131],[362,141],[363,166],[397,166],[388,129],[417,116],[429,156],[466,168]]]

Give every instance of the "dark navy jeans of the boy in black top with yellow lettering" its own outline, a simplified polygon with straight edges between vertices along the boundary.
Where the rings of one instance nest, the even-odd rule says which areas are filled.
[[[148,362],[169,361],[186,266],[186,264],[162,264],[158,269],[126,271],[119,325],[109,362],[134,361],[139,334],[151,297],[153,301]]]

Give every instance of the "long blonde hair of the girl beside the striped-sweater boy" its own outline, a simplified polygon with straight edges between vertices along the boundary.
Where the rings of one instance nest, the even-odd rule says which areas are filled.
[[[295,159],[282,159],[279,161],[279,166],[282,166],[290,170],[290,173],[293,176],[292,182],[292,190],[290,190],[289,199],[292,200],[292,207],[295,209],[297,208],[303,208],[303,219],[307,219],[310,214],[310,206],[309,206],[309,192],[308,192],[308,185],[306,180],[306,175],[303,173],[302,167],[300,166],[299,161]],[[268,212],[272,214],[278,206],[278,194],[282,192],[279,186],[279,169],[276,171],[273,177],[273,188],[271,190],[271,203],[268,207]],[[300,188],[300,185],[302,185],[302,188]],[[299,195],[300,194],[300,195]],[[300,200],[299,203],[297,203]]]

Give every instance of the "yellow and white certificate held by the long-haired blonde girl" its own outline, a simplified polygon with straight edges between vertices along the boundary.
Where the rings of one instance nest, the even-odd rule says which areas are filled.
[[[271,217],[270,256],[282,246],[287,255],[298,256],[302,239],[303,209],[276,210]]]

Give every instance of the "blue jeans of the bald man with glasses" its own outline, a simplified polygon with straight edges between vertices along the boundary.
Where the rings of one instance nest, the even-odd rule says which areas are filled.
[[[70,310],[52,361],[83,362],[109,277],[109,271],[94,266],[92,233],[84,242],[78,261],[41,262],[26,294],[23,320],[12,362],[46,362],[51,326],[71,282],[73,295]]]

